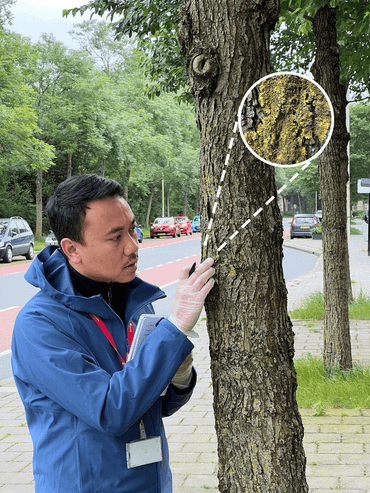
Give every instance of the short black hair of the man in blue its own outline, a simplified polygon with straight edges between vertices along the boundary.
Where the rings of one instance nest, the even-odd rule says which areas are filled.
[[[95,174],[71,176],[60,183],[45,208],[59,245],[63,238],[83,243],[82,226],[88,202],[123,194],[117,181]]]

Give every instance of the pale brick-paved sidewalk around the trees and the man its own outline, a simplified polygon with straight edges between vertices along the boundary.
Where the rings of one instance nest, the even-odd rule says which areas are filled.
[[[294,239],[286,240],[284,245],[314,248],[318,253],[321,241]],[[370,257],[367,256],[367,243],[362,236],[351,237],[350,258],[351,279],[356,281],[353,284],[354,294],[362,289],[370,295]],[[321,260],[322,257],[319,257],[313,271],[287,283],[289,307],[298,305],[307,294],[322,290]],[[293,325],[296,357],[308,352],[320,355],[323,346],[322,323],[311,326],[306,321],[294,320]],[[197,332],[200,335],[194,350],[197,387],[190,402],[165,419],[174,493],[200,493],[208,488],[218,491],[217,439],[204,319],[201,319]],[[354,361],[369,365],[370,321],[353,321],[351,339]],[[370,493],[370,409],[333,409],[318,417],[312,416],[312,409],[300,411],[305,428],[304,447],[310,492],[341,490],[342,493]],[[32,442],[23,405],[10,378],[0,382],[0,493],[33,491]]]

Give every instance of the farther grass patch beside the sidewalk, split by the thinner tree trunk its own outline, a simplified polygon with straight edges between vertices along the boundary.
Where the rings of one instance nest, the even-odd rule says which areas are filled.
[[[349,318],[354,320],[370,319],[370,298],[363,293],[348,306]],[[324,318],[324,296],[316,292],[308,296],[299,308],[290,312],[292,318],[322,320]]]

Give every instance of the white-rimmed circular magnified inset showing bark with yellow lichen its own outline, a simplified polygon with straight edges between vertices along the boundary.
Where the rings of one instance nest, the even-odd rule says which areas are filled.
[[[288,168],[317,158],[334,128],[324,89],[293,72],[267,75],[245,94],[238,111],[241,137],[261,161]]]

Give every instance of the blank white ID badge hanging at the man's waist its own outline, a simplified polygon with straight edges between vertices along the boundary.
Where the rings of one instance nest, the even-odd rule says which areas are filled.
[[[127,468],[162,461],[161,437],[149,437],[126,443]]]

